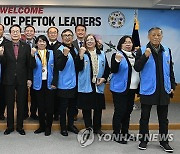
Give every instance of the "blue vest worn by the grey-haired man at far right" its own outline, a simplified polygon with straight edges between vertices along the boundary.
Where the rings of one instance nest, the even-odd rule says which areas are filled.
[[[170,53],[169,49],[165,46],[162,52],[163,56],[163,77],[164,77],[164,89],[169,94],[171,91],[170,81]],[[142,54],[144,54],[146,46],[141,48]],[[140,72],[140,94],[152,95],[156,90],[156,65],[152,54],[148,61],[144,65],[143,70]]]

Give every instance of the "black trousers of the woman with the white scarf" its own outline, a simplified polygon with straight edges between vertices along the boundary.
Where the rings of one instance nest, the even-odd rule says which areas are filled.
[[[114,103],[113,131],[115,134],[128,134],[130,115],[134,105],[135,90],[130,89],[126,95],[115,92],[113,92],[112,95]]]

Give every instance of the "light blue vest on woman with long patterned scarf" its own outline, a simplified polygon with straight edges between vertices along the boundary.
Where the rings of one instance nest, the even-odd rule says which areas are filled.
[[[101,51],[101,54],[98,54],[98,75],[97,78],[101,78],[104,74],[106,65],[105,54]],[[91,87],[91,66],[90,59],[87,54],[84,54],[84,68],[78,74],[78,92],[90,93],[92,92]],[[96,86],[97,93],[104,93],[105,83],[102,83],[99,86]]]

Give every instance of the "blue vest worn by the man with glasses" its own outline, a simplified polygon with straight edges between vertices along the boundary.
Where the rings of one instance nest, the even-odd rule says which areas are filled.
[[[59,48],[60,52],[63,52],[64,46],[61,45]],[[76,54],[78,51],[74,48]],[[76,71],[74,60],[69,52],[68,60],[66,62],[66,66],[64,67],[63,71],[59,71],[59,78],[58,78],[58,89],[73,89],[76,86]]]

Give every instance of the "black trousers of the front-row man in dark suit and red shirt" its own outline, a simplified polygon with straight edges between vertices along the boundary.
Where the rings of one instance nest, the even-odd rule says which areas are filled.
[[[24,103],[26,99],[27,86],[26,85],[5,85],[5,100],[7,104],[7,127],[14,129],[14,102],[16,91],[16,105],[17,105],[17,129],[23,128],[24,119]]]

